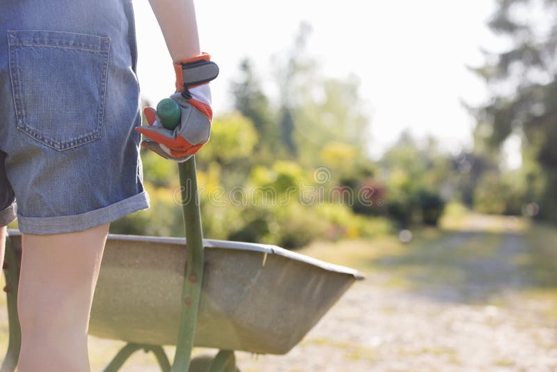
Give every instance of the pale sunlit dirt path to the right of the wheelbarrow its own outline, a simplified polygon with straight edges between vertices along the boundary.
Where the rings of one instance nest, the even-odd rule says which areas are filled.
[[[482,242],[488,245],[494,239],[499,244],[488,254],[462,255],[466,245],[481,249]],[[557,324],[544,315],[551,304],[525,300],[518,290],[526,284],[524,274],[512,264],[527,249],[521,235],[454,233],[431,249],[434,257],[441,256],[439,262],[413,266],[421,265],[422,272],[405,271],[405,278],[416,285],[389,285],[406,263],[402,258],[395,263],[386,260],[392,274],[368,273],[368,279],[352,286],[288,355],[253,358],[238,352],[240,368],[557,371]],[[447,271],[442,265],[448,264],[462,266],[455,278],[445,272],[439,280],[431,279],[436,267]],[[428,280],[421,282],[420,274]]]

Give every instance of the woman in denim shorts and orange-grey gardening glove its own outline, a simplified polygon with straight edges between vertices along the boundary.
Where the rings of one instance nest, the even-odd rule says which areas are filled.
[[[209,61],[193,0],[150,3],[175,62],[173,98],[197,110],[187,119],[197,122],[182,115],[173,132],[139,127],[131,0],[0,3],[0,262],[17,217],[19,372],[90,371],[88,319],[109,224],[149,207],[138,132],[175,161],[208,139],[210,79],[186,81],[191,63]]]

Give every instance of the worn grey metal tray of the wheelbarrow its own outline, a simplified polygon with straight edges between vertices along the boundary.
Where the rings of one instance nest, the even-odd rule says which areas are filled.
[[[8,235],[21,249],[19,231]],[[200,347],[285,354],[363,278],[356,270],[279,247],[203,242],[205,274],[195,332]],[[89,334],[174,345],[186,249],[180,238],[109,235]]]

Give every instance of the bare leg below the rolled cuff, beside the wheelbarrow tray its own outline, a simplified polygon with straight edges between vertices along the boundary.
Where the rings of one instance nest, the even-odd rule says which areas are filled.
[[[18,372],[91,371],[87,332],[108,229],[23,234]]]

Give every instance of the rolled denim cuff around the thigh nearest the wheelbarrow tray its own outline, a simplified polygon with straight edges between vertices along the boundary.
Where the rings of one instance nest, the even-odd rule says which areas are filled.
[[[86,230],[102,224],[108,224],[114,220],[149,208],[149,196],[143,191],[130,198],[118,201],[90,212],[80,215],[70,215],[61,217],[24,217],[17,215],[19,231],[28,234],[59,234],[71,233],[74,231]]]

